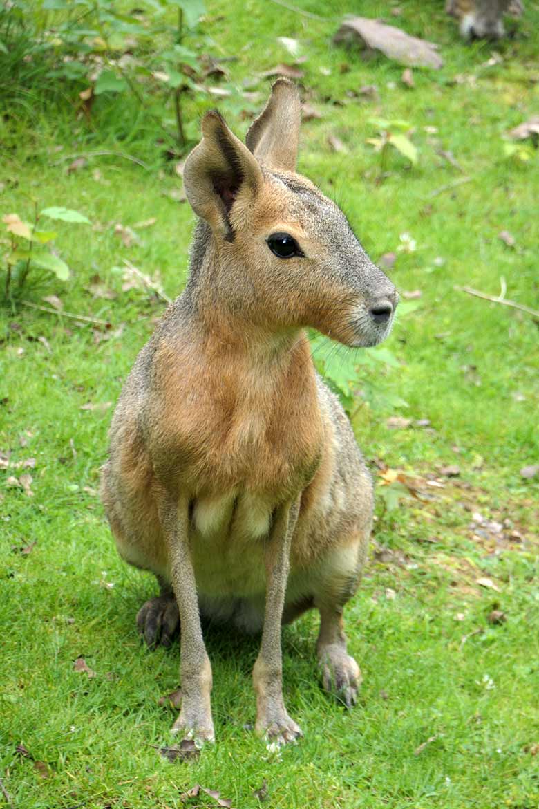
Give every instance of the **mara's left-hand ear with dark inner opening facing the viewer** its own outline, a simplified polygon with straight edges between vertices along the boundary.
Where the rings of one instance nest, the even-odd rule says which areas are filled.
[[[240,193],[255,196],[263,182],[262,172],[218,112],[205,114],[202,135],[183,168],[183,188],[195,213],[233,241],[230,210]]]

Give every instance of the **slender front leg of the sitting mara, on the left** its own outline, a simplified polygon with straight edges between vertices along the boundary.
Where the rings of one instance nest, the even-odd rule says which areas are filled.
[[[168,495],[159,509],[166,547],[171,561],[172,587],[181,622],[182,707],[173,733],[199,742],[213,741],[212,667],[204,646],[198,595],[189,547],[188,502]]]

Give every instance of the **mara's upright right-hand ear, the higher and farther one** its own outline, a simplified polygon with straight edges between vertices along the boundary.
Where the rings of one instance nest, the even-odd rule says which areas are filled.
[[[263,112],[251,124],[246,145],[267,166],[293,172],[300,137],[301,101],[288,78],[278,78]]]

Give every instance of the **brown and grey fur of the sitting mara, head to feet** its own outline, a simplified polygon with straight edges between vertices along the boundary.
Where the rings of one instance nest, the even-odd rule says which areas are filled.
[[[284,709],[282,622],[318,608],[326,688],[352,705],[360,682],[342,612],[364,566],[373,493],[303,328],[374,345],[397,299],[339,209],[293,172],[298,129],[285,80],[251,127],[251,151],[217,113],[204,118],[184,175],[205,222],[190,279],[128,377],[103,468],[119,552],[161,586],[139,631],[168,646],[181,621],[175,731],[199,739],[213,739],[200,614],[263,629],[256,728],[277,743],[301,733]],[[274,255],[267,238],[279,232],[301,256]]]

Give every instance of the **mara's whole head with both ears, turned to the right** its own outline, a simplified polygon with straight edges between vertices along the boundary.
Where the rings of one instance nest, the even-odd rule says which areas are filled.
[[[280,330],[312,326],[345,345],[377,345],[398,296],[344,214],[295,172],[301,105],[278,79],[243,144],[217,112],[187,158],[187,199],[212,231],[204,273],[217,306]]]

